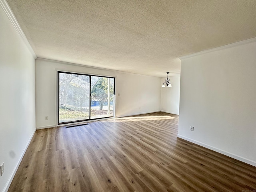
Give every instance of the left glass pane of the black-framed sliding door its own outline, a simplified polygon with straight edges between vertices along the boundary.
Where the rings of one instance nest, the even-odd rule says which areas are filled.
[[[90,76],[59,73],[59,123],[89,119]]]

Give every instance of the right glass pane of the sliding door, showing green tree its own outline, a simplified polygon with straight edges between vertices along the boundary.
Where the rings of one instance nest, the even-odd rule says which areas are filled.
[[[91,77],[91,119],[112,117],[114,108],[114,78]]]

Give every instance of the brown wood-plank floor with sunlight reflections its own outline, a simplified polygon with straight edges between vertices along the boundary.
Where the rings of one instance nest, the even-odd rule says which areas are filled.
[[[256,167],[177,138],[163,112],[37,130],[9,192],[256,190]]]

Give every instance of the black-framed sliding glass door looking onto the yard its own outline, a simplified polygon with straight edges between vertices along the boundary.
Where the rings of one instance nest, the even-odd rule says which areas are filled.
[[[58,124],[114,116],[115,79],[58,72]]]

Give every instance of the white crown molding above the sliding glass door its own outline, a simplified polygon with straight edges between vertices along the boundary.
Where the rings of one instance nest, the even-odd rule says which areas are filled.
[[[39,58],[39,57],[36,58],[36,60],[48,61],[48,62],[54,62],[54,63],[59,63],[59,64],[78,66],[78,67],[86,67],[86,68],[92,68],[92,69],[98,69],[98,70],[106,70],[106,71],[112,71],[112,72],[117,72],[117,73],[125,73],[125,74],[139,75],[139,76],[149,76],[149,77],[155,77],[155,78],[162,78],[162,77],[156,77],[156,76],[150,76],[150,75],[142,75],[142,74],[137,74],[137,73],[130,73],[130,72],[113,70],[113,69],[106,69],[106,68],[88,66],[88,65],[77,64],[77,63],[70,63],[70,62],[64,62],[64,61],[58,61],[58,60],[52,60],[52,59],[46,59],[46,58]]]

